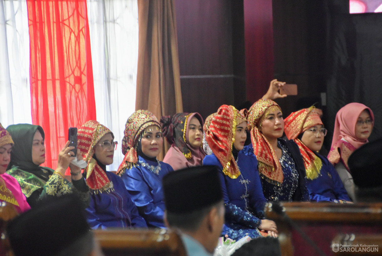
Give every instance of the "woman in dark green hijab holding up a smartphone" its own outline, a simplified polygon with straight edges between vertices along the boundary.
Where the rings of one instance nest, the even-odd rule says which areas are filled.
[[[15,124],[6,129],[15,144],[11,152],[11,162],[7,173],[17,179],[21,190],[33,208],[39,200],[46,197],[76,193],[87,207],[89,189],[81,175],[71,175],[71,182],[65,179],[65,170],[70,167],[71,173],[79,170],[70,162],[75,159],[69,147],[69,141],[58,154],[56,170],[40,166],[45,162],[45,134],[41,126],[32,124]],[[78,157],[79,157],[78,151]]]

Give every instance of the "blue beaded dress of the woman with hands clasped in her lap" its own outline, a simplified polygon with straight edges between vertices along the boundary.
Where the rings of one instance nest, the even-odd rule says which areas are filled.
[[[251,238],[261,236],[257,228],[261,219],[264,219],[265,197],[257,171],[256,157],[253,154],[238,153],[240,176],[236,179],[223,173],[223,166],[214,154],[204,157],[203,165],[215,165],[220,171],[225,204],[225,227],[222,235],[228,235],[234,240],[246,235]]]

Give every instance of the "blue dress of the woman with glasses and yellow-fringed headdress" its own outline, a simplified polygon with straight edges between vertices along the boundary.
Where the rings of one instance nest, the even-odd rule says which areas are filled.
[[[343,200],[351,202],[334,166],[326,157],[317,153],[316,155],[321,158],[322,161],[320,175],[313,180],[306,179],[306,186],[308,187],[311,201],[337,203]]]

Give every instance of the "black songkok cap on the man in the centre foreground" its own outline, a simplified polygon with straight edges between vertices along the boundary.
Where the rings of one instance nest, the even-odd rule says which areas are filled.
[[[189,213],[223,199],[216,166],[195,166],[168,173],[163,177],[166,209],[174,214]]]

